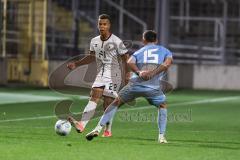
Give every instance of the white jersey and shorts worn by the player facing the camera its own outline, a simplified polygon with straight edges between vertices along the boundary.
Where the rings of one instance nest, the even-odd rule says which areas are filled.
[[[127,53],[125,45],[114,34],[105,41],[97,36],[91,40],[90,51],[95,52],[97,63],[97,76],[92,87],[104,86],[103,95],[115,98],[122,82],[120,56]]]

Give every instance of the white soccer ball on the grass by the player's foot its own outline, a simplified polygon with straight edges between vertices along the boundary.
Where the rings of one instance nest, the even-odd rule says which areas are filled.
[[[55,132],[60,136],[66,136],[71,132],[71,123],[67,120],[58,120],[55,124]]]

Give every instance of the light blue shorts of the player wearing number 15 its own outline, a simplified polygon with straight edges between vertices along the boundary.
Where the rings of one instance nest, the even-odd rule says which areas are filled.
[[[134,85],[133,83],[128,83],[124,86],[118,93],[118,96],[125,103],[138,97],[144,97],[151,105],[156,107],[159,107],[160,104],[163,104],[166,100],[166,96],[161,90],[141,85]]]

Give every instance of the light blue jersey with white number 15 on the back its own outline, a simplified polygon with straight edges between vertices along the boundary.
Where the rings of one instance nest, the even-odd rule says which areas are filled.
[[[131,58],[136,62],[139,70],[153,70],[162,64],[166,58],[172,58],[172,53],[160,45],[148,44],[136,51]],[[154,76],[148,81],[144,81],[139,78],[138,75],[133,74],[130,82],[133,82],[135,85],[141,85],[145,87],[150,87],[153,89],[160,89],[160,80],[163,77],[164,73]]]

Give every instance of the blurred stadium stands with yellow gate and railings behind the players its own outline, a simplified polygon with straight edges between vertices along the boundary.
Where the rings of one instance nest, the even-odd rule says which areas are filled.
[[[240,89],[239,0],[1,0],[0,84],[48,86],[59,64],[87,53],[102,13],[130,52],[145,29],[158,32],[176,88]]]

